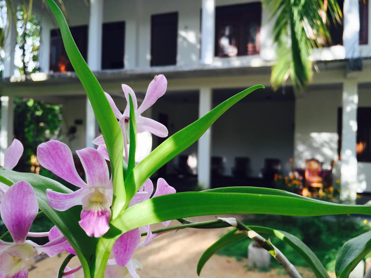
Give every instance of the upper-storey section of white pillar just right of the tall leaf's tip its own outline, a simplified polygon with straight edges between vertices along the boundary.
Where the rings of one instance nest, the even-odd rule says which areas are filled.
[[[103,0],[90,0],[88,65],[92,71],[102,69]]]

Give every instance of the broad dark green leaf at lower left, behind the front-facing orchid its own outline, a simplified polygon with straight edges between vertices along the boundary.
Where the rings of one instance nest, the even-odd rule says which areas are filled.
[[[81,206],[74,206],[67,211],[56,211],[49,206],[46,199],[46,189],[61,193],[71,193],[72,190],[66,188],[59,182],[32,173],[18,173],[15,171],[0,168],[0,182],[11,186],[15,182],[29,182],[35,193],[39,209],[58,227],[62,234],[68,239],[81,262],[84,277],[90,278],[91,258],[95,255],[97,238],[89,237],[80,227]]]

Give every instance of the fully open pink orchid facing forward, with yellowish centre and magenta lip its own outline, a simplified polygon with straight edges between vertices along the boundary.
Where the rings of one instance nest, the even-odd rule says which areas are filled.
[[[108,165],[96,149],[85,148],[76,150],[76,153],[84,168],[86,183],[77,173],[72,152],[66,144],[52,140],[37,147],[40,165],[80,188],[68,194],[47,189],[47,200],[57,211],[82,205],[79,224],[88,236],[98,238],[108,231],[111,217],[112,198],[109,191],[112,190],[112,181],[109,179]]]

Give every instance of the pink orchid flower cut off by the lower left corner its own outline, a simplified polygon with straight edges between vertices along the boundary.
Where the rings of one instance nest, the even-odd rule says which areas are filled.
[[[4,194],[0,203],[1,219],[14,242],[0,240],[0,276],[7,278],[27,277],[25,261],[44,252],[53,257],[65,249],[65,240],[57,237],[45,245],[26,240],[30,227],[39,210],[36,195],[28,182],[14,183]]]

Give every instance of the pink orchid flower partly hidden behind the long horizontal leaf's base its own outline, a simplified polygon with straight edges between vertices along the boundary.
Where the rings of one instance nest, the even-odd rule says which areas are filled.
[[[153,183],[150,179],[147,179],[144,185],[131,199],[129,206],[148,200],[151,197],[152,192]],[[159,178],[157,180],[156,191],[152,198],[175,192],[175,189],[168,185],[164,179]],[[162,222],[162,224],[168,226],[170,221]],[[144,241],[140,242],[141,232],[144,231],[147,232],[147,237]],[[136,259],[132,258],[132,255],[134,254],[135,249],[148,246],[152,239],[158,235],[159,234],[152,235],[150,225],[131,230],[121,235],[112,248],[114,258],[108,260],[105,277],[121,278],[129,273],[133,278],[139,278],[137,270],[141,270],[142,266]]]

